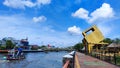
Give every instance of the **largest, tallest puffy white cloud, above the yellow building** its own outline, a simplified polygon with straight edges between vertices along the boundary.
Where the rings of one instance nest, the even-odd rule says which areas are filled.
[[[103,19],[109,19],[114,17],[114,11],[109,4],[103,3],[100,8],[96,9],[90,15],[91,15],[91,18],[89,19],[89,22],[93,23],[94,21],[97,21],[99,19],[103,20]]]

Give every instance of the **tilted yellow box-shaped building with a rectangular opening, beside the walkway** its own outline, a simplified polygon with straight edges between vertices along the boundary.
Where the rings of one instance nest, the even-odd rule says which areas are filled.
[[[104,36],[95,25],[83,31],[82,35],[84,36],[82,42],[85,45],[86,53],[91,53],[91,51],[93,50],[93,46],[95,45],[102,46],[107,44],[102,42],[104,40]]]

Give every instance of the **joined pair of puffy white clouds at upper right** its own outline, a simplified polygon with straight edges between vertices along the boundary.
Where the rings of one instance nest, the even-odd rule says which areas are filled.
[[[89,11],[85,10],[84,8],[80,8],[76,12],[72,13],[72,16],[84,19],[88,23],[94,23],[98,20],[103,21],[103,19],[107,20],[107,19],[113,18],[114,11],[109,4],[103,3],[100,8],[96,9],[92,13],[89,13]]]

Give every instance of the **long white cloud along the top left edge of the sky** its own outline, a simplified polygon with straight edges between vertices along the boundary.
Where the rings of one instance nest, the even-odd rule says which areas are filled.
[[[50,3],[51,0],[37,0],[36,2],[32,2],[31,0],[5,0],[3,2],[5,6],[20,9],[24,9],[25,7],[41,6]]]

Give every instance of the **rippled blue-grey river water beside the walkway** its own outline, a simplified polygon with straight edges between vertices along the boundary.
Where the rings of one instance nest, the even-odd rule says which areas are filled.
[[[62,57],[67,52],[26,53],[23,60],[8,61],[0,54],[0,68],[62,68]]]

